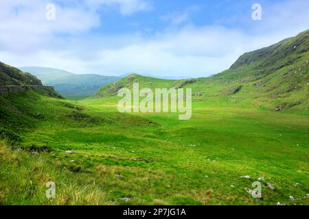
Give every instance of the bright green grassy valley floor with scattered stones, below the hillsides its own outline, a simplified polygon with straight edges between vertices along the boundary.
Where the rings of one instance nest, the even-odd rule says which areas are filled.
[[[6,99],[14,100],[10,128],[18,142],[0,144],[1,204],[309,203],[307,112],[194,101],[192,119],[181,121],[178,114],[120,114],[113,96]],[[35,152],[42,147],[51,151]],[[262,199],[245,191],[258,177]],[[56,198],[45,197],[48,181]]]

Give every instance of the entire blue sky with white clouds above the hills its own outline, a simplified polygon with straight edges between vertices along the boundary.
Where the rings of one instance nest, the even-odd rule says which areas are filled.
[[[255,3],[260,20],[252,18]],[[207,77],[306,29],[308,0],[0,0],[0,61],[78,74]]]

